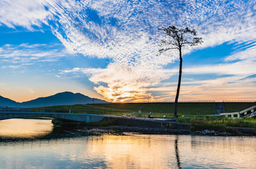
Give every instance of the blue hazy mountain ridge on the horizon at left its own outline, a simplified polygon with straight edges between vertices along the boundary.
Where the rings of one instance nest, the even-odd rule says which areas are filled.
[[[84,104],[84,103],[106,102],[105,100],[90,98],[89,96],[81,93],[62,92],[44,98],[37,98],[26,102],[15,102],[11,99],[0,96],[0,106],[8,107],[43,107],[43,106],[57,106],[57,105],[73,105],[73,104]]]

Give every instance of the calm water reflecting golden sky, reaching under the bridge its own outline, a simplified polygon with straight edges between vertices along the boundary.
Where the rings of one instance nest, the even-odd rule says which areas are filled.
[[[0,121],[0,168],[256,168],[255,158],[254,137],[90,135],[53,130],[51,120]]]

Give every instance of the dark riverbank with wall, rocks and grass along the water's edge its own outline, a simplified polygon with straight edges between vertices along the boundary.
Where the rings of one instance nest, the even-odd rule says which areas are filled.
[[[238,136],[256,135],[254,119],[204,119],[187,120],[182,122],[156,122],[135,119],[105,118],[95,123],[66,123],[52,120],[54,125],[77,126],[91,132],[124,133],[134,132],[141,134],[189,134]],[[247,127],[250,126],[250,127]]]

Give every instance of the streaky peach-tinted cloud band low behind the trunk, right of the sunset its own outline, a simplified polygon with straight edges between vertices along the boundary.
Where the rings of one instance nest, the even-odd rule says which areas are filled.
[[[170,93],[164,98],[157,99],[170,100],[175,98],[177,83],[173,86],[148,88],[148,92],[154,95],[164,95]],[[244,76],[223,77],[211,80],[182,82],[179,100],[255,100],[256,79]],[[196,84],[196,85],[195,85]],[[173,99],[171,99],[173,100]]]

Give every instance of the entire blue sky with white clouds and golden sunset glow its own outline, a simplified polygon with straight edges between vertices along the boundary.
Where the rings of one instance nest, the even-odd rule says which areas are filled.
[[[70,91],[108,101],[173,101],[178,50],[161,27],[189,27],[180,101],[256,100],[256,2],[0,0],[0,95]]]

